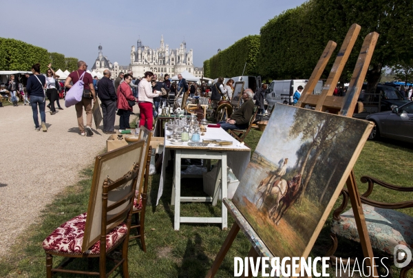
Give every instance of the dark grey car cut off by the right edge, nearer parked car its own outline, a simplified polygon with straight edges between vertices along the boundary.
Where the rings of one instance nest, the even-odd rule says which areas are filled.
[[[392,111],[370,114],[366,120],[375,124],[368,137],[371,140],[387,137],[413,142],[413,101]]]

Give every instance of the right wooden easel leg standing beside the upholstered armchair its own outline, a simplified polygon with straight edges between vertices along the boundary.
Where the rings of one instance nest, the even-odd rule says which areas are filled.
[[[354,176],[354,170],[351,171],[350,176],[346,182],[348,195],[350,196],[351,207],[354,213],[354,220],[357,224],[357,231],[359,232],[361,248],[363,249],[363,254],[365,258],[368,258],[368,266],[374,266],[374,254],[372,249],[372,244],[370,242],[370,237],[368,236],[366,218],[364,217],[363,207],[361,206],[361,200],[359,195],[359,190],[357,189],[356,178]],[[376,267],[372,267],[372,277],[377,277]]]

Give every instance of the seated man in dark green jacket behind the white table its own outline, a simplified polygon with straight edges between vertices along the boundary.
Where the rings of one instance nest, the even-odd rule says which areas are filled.
[[[244,94],[242,94],[244,103],[241,107],[231,115],[231,118],[228,118],[226,121],[218,122],[224,130],[248,128],[251,117],[254,114],[253,97],[253,90],[244,90]]]

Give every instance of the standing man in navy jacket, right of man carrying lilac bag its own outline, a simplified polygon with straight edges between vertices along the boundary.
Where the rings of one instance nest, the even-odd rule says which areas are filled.
[[[105,69],[103,78],[98,82],[98,97],[102,103],[103,112],[103,133],[114,134],[115,114],[116,114],[116,96],[114,84],[110,80],[111,72]]]

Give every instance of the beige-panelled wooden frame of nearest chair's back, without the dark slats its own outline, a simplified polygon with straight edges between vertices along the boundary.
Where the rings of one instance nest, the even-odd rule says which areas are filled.
[[[108,176],[111,180],[117,180],[123,173],[131,171],[134,164],[140,164],[142,153],[144,151],[144,144],[143,141],[138,141],[114,151],[109,151],[102,156],[96,156],[92,188],[90,189],[89,195],[89,205],[87,206],[88,213],[85,224],[85,235],[83,237],[83,252],[86,252],[92,247],[100,237],[102,200],[98,196],[103,192],[103,181]],[[129,182],[125,187],[126,186],[132,186],[132,183]],[[108,196],[109,204],[116,201],[117,197],[116,194],[114,194],[114,196]],[[118,210],[113,211],[113,213],[116,214],[122,208],[123,206],[120,206]],[[114,222],[107,228],[114,228],[119,223],[120,222]]]

